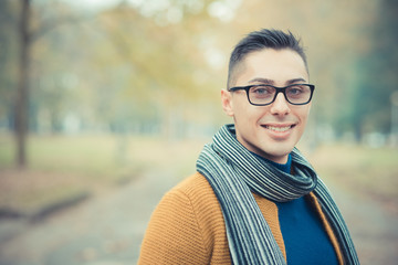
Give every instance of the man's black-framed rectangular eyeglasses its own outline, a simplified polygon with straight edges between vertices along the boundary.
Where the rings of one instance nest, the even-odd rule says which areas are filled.
[[[228,91],[245,91],[249,103],[254,106],[266,106],[273,103],[279,93],[292,105],[305,105],[311,102],[315,86],[310,84],[293,84],[285,87],[272,85],[235,86]]]

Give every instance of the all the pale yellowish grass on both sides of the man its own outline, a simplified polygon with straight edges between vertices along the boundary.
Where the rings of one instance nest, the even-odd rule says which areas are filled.
[[[80,193],[98,192],[153,168],[182,179],[210,139],[171,141],[154,137],[31,136],[29,169],[13,169],[14,145],[0,135],[0,208],[32,209]],[[397,206],[398,150],[324,145],[308,156],[318,174],[349,191]]]

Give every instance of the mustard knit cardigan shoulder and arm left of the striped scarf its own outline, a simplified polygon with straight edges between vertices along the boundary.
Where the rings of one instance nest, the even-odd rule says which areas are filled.
[[[221,209],[210,184],[195,173],[167,192],[157,205],[139,264],[209,264],[216,239],[224,237],[222,227]],[[227,239],[221,242],[226,242],[221,247],[226,250]]]

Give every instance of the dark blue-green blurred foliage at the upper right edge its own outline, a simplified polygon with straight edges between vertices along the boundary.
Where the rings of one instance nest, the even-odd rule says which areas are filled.
[[[358,139],[365,132],[388,134],[391,129],[390,96],[398,83],[397,12],[397,1],[380,1],[377,19],[367,31],[369,44],[356,59],[358,77],[348,98],[350,108],[341,121],[355,130]]]

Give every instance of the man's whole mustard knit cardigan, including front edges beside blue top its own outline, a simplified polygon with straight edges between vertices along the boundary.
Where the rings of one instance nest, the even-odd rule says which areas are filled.
[[[276,204],[253,195],[286,258]],[[321,205],[312,193],[308,199],[343,264],[337,240]],[[203,176],[191,176],[163,198],[150,218],[138,264],[231,264],[221,208]]]

